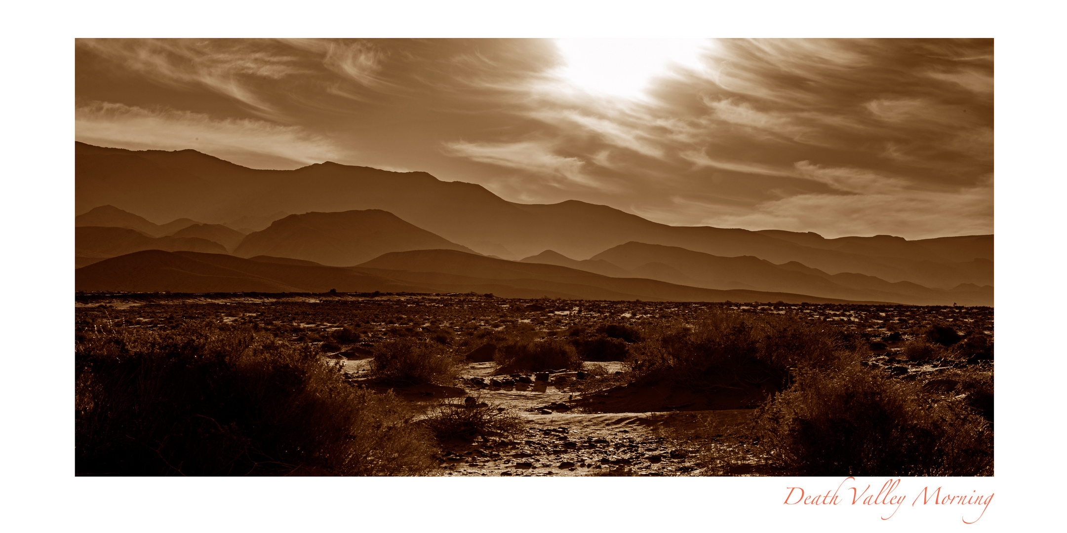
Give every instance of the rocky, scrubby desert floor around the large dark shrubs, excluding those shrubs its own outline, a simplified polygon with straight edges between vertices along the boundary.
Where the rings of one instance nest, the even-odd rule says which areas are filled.
[[[989,307],[332,293],[98,293],[79,294],[76,307],[82,333],[170,330],[195,321],[248,326],[310,346],[351,386],[392,389],[419,411],[453,408],[465,400],[469,407],[519,421],[509,434],[442,440],[430,471],[436,475],[781,475],[753,433],[753,413],[779,392],[766,376],[735,374],[703,389],[631,377],[627,352],[635,339],[626,339],[625,332],[660,321],[685,323],[711,310],[787,316],[834,328],[861,345],[863,367],[921,386],[933,402],[960,402],[990,425],[992,420],[991,355],[956,351],[917,357],[908,348],[935,324],[991,342]],[[493,360],[495,346],[487,345],[515,333],[600,342],[593,357],[599,360],[571,369],[501,368]],[[372,378],[376,346],[405,337],[463,356],[455,377],[417,385]]]

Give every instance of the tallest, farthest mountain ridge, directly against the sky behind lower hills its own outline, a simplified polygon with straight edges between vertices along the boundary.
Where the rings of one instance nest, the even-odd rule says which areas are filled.
[[[506,201],[484,188],[337,163],[258,171],[194,150],[131,151],[76,143],[78,209],[120,203],[156,219],[208,223],[284,212],[380,209],[469,249],[506,259],[556,251],[592,257],[631,241],[719,257],[800,262],[827,274],[950,290],[991,285],[992,236],[907,241],[890,236],[823,239],[815,233],[653,223],[607,206]]]

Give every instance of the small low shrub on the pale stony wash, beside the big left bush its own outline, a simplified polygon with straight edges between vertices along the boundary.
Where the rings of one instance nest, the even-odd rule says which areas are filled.
[[[484,403],[466,405],[463,401],[449,401],[434,406],[419,423],[439,441],[510,435],[523,427],[522,418],[510,409]]]

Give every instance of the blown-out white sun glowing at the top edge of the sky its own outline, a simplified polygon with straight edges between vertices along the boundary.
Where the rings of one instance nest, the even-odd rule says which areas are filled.
[[[701,69],[700,56],[712,43],[703,38],[559,38],[556,46],[567,64],[558,74],[589,93],[643,99],[650,82],[671,67]]]

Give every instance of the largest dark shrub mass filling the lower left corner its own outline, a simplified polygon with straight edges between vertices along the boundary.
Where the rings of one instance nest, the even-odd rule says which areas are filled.
[[[392,394],[347,385],[310,346],[248,328],[79,334],[76,472],[396,475],[434,452]]]

